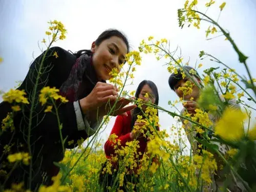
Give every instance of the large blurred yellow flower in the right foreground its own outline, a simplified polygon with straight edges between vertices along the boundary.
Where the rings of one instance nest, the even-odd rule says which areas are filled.
[[[227,108],[215,127],[215,134],[225,140],[240,140],[244,136],[243,120],[246,115],[233,108]]]

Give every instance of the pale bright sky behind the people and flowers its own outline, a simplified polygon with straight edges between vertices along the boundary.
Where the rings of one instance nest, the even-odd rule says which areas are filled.
[[[137,50],[142,39],[154,36],[155,39],[170,40],[171,50],[180,47],[184,60],[189,60],[190,66],[203,63],[199,73],[209,67],[219,67],[219,63],[209,59],[200,61],[201,50],[215,55],[228,66],[235,68],[239,74],[246,76],[244,66],[239,63],[238,56],[230,43],[224,37],[206,40],[205,30],[208,24],[202,22],[201,29],[178,26],[177,10],[183,8],[185,1],[87,1],[87,0],[2,0],[0,7],[0,90],[8,91],[23,80],[28,72],[33,58],[40,54],[38,45],[45,37],[49,20],[61,21],[68,30],[67,38],[58,41],[54,46],[62,47],[72,52],[90,49],[92,42],[105,29],[119,29],[129,38],[131,48]],[[204,12],[208,1],[200,0],[199,10]],[[208,14],[217,19],[219,5],[223,1],[216,0]],[[240,50],[248,58],[248,66],[253,77],[256,74],[256,3],[254,0],[227,0],[219,23],[230,32]],[[176,111],[167,104],[169,100],[178,99],[168,87],[169,73],[164,61],[157,61],[153,55],[142,55],[142,65],[135,72],[134,85],[127,90],[136,90],[139,82],[144,79],[156,83],[159,91],[159,105],[170,111]],[[220,66],[221,67],[221,66]],[[1,100],[0,100],[1,101]],[[181,105],[178,105],[181,109]],[[99,135],[105,141],[112,129],[115,118]],[[170,127],[176,121],[166,113],[160,113],[160,129],[166,129],[170,140],[174,133]],[[186,138],[184,137],[186,140]],[[186,141],[187,142],[187,141]],[[188,144],[189,145],[189,144]]]

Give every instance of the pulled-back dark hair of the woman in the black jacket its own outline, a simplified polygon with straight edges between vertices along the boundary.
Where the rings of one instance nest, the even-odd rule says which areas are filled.
[[[124,41],[125,45],[127,46],[127,52],[130,51],[129,41],[128,41],[127,37],[122,32],[118,31],[117,29],[108,29],[108,30],[103,31],[98,36],[98,38],[95,40],[95,45],[99,46],[102,41],[109,39],[110,37],[113,37],[113,36],[117,36],[117,37],[121,38]],[[92,54],[92,52],[90,50],[80,50],[80,51],[77,51],[76,53],[74,53],[74,55],[78,58],[84,53]]]

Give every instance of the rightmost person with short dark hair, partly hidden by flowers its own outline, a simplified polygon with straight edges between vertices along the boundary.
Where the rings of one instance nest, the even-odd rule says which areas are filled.
[[[189,73],[191,70],[194,71],[194,74],[190,74],[190,76],[185,76],[184,78],[182,77],[182,73],[184,72],[184,70]],[[184,115],[184,113],[189,113],[191,116],[196,114],[196,109],[199,109],[199,104],[197,103],[200,94],[201,94],[201,90],[203,89],[202,85],[201,85],[201,79],[200,76],[198,74],[198,72],[194,69],[191,68],[189,66],[183,66],[183,69],[178,69],[177,70],[178,73],[173,73],[169,76],[168,79],[168,84],[170,89],[172,89],[179,98],[183,98],[186,102],[184,104],[184,108],[181,110],[181,115]],[[190,81],[191,83],[193,83],[193,87],[192,92],[190,94],[183,94],[183,91],[179,88],[185,87],[186,86],[186,82]],[[223,97],[220,97],[222,100],[224,99]],[[236,103],[236,100],[234,99],[230,99],[228,101],[228,104],[232,107],[232,108],[236,108],[236,109],[240,109],[239,104]],[[212,115],[210,113],[208,113],[209,119],[215,123],[217,122],[217,120],[219,119],[219,117]],[[202,152],[202,147],[201,149],[199,148],[199,142],[195,139],[195,137],[200,138],[200,134],[198,134],[196,132],[196,130],[191,129],[193,124],[191,122],[187,122],[184,123],[184,119],[180,118],[182,124],[185,127],[185,132],[187,135],[187,138],[191,144],[192,150],[193,150],[193,155],[195,154],[201,154]],[[192,131],[191,131],[192,130]],[[209,135],[209,137],[211,137],[211,135]],[[226,152],[229,150],[227,145],[225,144],[221,144],[219,142],[215,142],[214,144],[217,144],[219,146],[219,151],[225,155]],[[217,160],[217,162],[221,162],[220,158],[218,157],[217,154],[215,154],[215,159]],[[220,161],[219,161],[220,160]],[[218,166],[219,167],[219,166]],[[224,184],[225,177],[221,175],[220,170],[218,169],[217,173],[215,176],[212,176],[213,179],[213,183],[211,186],[211,189],[209,189],[209,191],[220,191],[221,187]],[[229,186],[231,191],[244,191],[244,187],[241,183],[237,182],[234,183],[232,185]]]

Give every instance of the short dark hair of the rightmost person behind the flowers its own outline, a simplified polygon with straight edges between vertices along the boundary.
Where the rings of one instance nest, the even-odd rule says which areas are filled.
[[[177,84],[177,82],[180,80],[180,79],[183,79],[182,78],[182,72],[185,70],[187,73],[189,73],[189,71],[193,69],[195,70],[194,68],[191,68],[189,66],[183,66],[182,68],[178,69],[178,73],[175,74],[175,73],[172,73],[169,77],[169,80],[168,80],[168,83],[169,83],[169,86],[170,86],[170,89],[174,90],[174,87],[175,85]],[[196,70],[195,70],[196,71]],[[192,75],[192,74],[191,74]],[[193,75],[195,76],[196,78],[200,78],[198,72],[196,71],[196,74]]]

